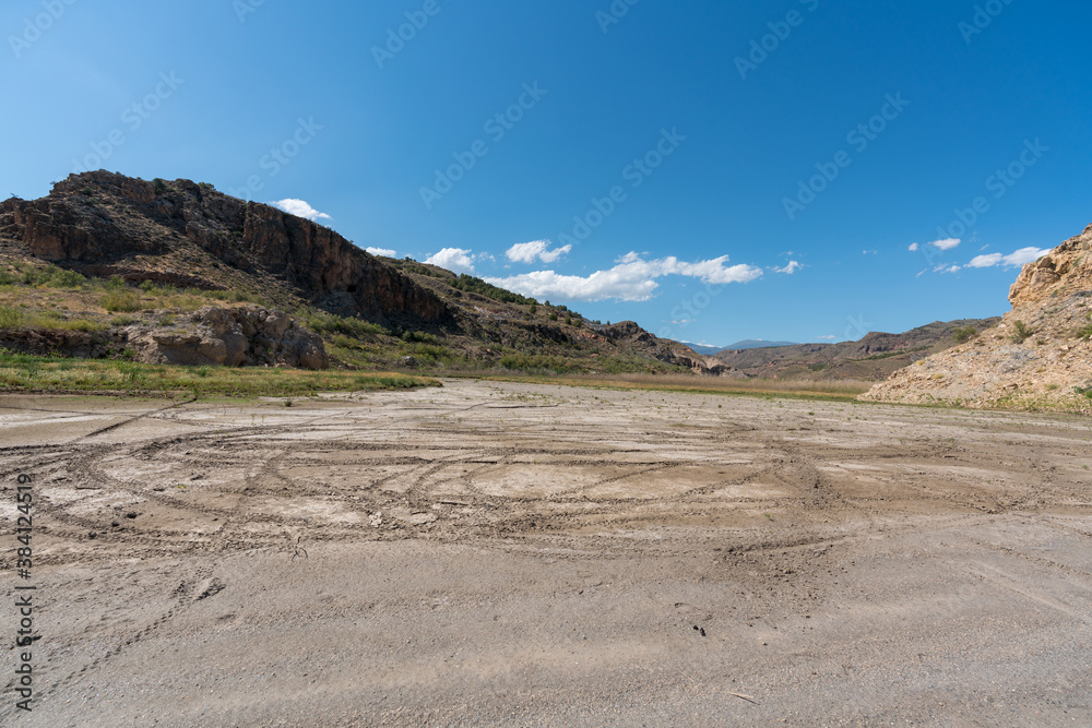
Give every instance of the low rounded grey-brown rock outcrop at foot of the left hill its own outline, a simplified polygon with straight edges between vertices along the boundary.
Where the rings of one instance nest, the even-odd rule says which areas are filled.
[[[281,311],[256,306],[201,309],[166,326],[134,324],[126,343],[145,363],[328,369],[322,338]]]

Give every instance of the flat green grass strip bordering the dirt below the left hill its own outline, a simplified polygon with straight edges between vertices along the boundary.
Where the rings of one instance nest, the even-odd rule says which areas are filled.
[[[0,351],[0,390],[96,392],[153,396],[287,397],[440,386],[425,377],[382,372],[175,367],[131,361],[60,359]]]

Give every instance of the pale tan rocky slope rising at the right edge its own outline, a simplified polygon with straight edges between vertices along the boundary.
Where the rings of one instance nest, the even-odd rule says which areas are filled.
[[[1092,226],[1023,267],[1012,310],[862,398],[1092,414]]]

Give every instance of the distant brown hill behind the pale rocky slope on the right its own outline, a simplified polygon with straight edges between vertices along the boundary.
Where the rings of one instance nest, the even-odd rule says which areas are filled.
[[[725,349],[715,358],[748,377],[879,381],[999,321],[938,321],[902,334],[873,332],[857,342]]]

